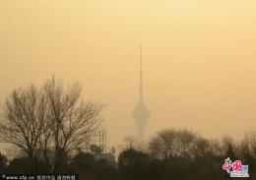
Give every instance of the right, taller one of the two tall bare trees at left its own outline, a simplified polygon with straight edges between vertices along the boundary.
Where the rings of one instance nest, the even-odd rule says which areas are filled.
[[[50,118],[39,144],[48,167],[57,172],[70,160],[72,152],[86,148],[89,135],[102,122],[99,112],[104,104],[83,100],[79,103],[81,86],[74,84],[65,91],[63,82],[54,77],[44,83],[42,90]]]

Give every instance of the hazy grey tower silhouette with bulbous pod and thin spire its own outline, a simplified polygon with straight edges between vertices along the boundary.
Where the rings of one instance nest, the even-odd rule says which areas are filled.
[[[140,100],[136,105],[135,110],[132,112],[133,118],[136,120],[138,129],[138,139],[140,142],[145,141],[145,129],[147,120],[151,117],[151,112],[147,109],[143,101],[143,75],[142,75],[142,44],[141,44],[141,71],[140,71]]]

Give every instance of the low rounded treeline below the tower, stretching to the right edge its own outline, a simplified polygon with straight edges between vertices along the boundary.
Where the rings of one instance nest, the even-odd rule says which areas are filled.
[[[133,137],[124,142],[118,157],[119,179],[222,180],[230,178],[223,169],[227,157],[248,165],[249,179],[256,179],[256,131],[237,141],[227,135],[205,139],[186,129],[165,129],[145,146]]]

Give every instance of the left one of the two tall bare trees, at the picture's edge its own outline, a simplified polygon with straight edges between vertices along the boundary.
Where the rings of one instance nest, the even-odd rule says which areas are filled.
[[[32,85],[28,89],[14,90],[1,106],[0,140],[15,145],[30,157],[32,173],[36,171],[33,168],[36,166],[34,158],[38,155],[36,146],[44,125],[43,113],[40,111],[44,108],[42,99]]]

